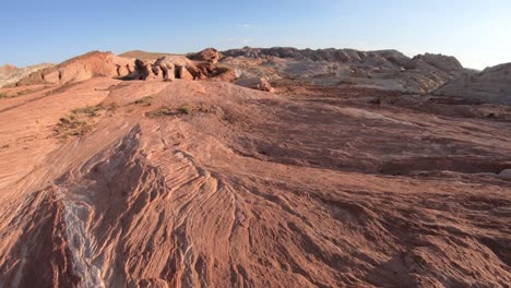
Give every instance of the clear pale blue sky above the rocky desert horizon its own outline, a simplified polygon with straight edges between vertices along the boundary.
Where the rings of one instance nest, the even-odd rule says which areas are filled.
[[[293,46],[393,48],[511,62],[511,0],[1,0],[0,64],[90,50],[191,52]]]

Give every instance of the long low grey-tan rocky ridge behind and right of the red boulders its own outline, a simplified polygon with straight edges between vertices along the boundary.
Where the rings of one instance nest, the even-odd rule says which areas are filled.
[[[221,63],[245,77],[301,79],[313,85],[342,82],[407,93],[429,93],[470,74],[454,57],[426,53],[411,59],[396,50],[245,47],[222,55]]]

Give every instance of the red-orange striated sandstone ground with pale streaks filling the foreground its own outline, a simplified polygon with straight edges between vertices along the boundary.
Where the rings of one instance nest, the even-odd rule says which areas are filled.
[[[280,92],[93,79],[0,99],[0,286],[509,287],[506,108]],[[90,133],[55,134],[99,104]]]

